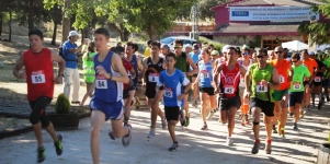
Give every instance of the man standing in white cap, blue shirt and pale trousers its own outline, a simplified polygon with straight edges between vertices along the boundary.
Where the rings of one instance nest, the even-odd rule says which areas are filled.
[[[88,42],[83,39],[83,44],[77,46],[76,42],[79,38],[79,34],[76,31],[71,31],[68,36],[68,40],[62,45],[62,55],[66,60],[66,70],[64,73],[64,94],[70,99],[71,85],[73,86],[71,104],[80,104],[79,102],[79,71],[78,71],[78,57],[83,45]]]

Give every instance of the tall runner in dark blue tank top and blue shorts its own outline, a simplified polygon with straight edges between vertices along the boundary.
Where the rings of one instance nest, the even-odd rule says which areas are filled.
[[[95,91],[91,99],[91,152],[93,163],[100,163],[100,132],[107,119],[111,119],[113,133],[122,138],[124,147],[129,145],[132,132],[129,126],[123,126],[123,83],[129,79],[122,59],[107,48],[110,34],[105,28],[94,31],[94,42],[99,54],[94,56],[96,72]],[[92,92],[92,90],[90,90]]]

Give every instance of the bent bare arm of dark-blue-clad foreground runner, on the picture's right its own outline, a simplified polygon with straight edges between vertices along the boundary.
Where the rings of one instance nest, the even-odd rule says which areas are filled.
[[[114,71],[120,72],[121,77],[113,77],[113,75],[106,74],[109,77],[105,77],[105,78],[111,79],[116,82],[122,82],[122,83],[127,84],[129,82],[129,79],[128,79],[127,72],[123,66],[122,58],[117,54],[114,54],[111,57],[111,59],[112,59],[112,66],[113,66]]]

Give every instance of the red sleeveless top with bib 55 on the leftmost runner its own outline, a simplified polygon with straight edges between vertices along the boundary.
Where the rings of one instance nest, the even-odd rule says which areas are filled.
[[[23,58],[27,82],[27,99],[36,101],[41,96],[53,98],[54,72],[50,50],[44,48],[39,54],[34,54],[29,49],[24,51]]]

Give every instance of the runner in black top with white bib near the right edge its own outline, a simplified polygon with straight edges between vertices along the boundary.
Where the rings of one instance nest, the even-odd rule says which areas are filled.
[[[322,61],[316,59],[314,51],[309,52],[309,58],[314,59],[318,65],[318,72],[314,78],[314,84],[311,87],[312,107],[315,107],[315,95],[317,95],[319,98],[318,109],[321,109],[323,104],[322,83],[323,83],[323,75],[325,75],[323,72],[326,71],[326,65]]]

